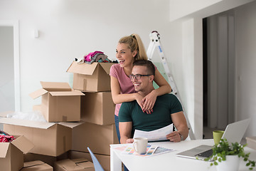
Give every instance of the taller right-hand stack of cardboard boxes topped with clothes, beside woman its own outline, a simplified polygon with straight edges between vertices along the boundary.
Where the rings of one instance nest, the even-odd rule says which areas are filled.
[[[119,143],[114,125],[114,103],[110,92],[110,67],[113,63],[73,62],[68,72],[73,73],[73,89],[81,96],[82,125],[73,128],[70,158],[90,156],[90,147],[103,168],[110,170],[110,144]]]

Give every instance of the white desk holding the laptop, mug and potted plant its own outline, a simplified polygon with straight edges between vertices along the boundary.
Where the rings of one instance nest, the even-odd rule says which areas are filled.
[[[210,167],[210,162],[203,160],[193,160],[183,157],[177,157],[176,153],[188,150],[198,145],[213,145],[213,139],[208,140],[186,140],[182,142],[151,142],[151,145],[158,145],[173,149],[173,152],[167,152],[161,155],[151,157],[139,157],[134,155],[120,154],[119,150],[114,150],[117,145],[110,145],[110,169],[112,171],[121,171],[122,162],[129,171],[143,171],[143,170],[190,170],[190,171],[204,171],[216,170],[215,166]],[[245,147],[245,152],[250,152],[250,160],[256,160],[256,151],[249,147]],[[240,169],[249,170],[245,166],[245,162],[240,159]]]

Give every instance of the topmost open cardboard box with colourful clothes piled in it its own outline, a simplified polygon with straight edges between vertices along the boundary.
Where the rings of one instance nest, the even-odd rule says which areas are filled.
[[[82,91],[109,91],[110,67],[114,63],[71,63],[68,73],[74,73],[73,89]]]

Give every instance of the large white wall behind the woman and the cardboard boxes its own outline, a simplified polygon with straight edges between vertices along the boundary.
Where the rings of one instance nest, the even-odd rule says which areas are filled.
[[[98,50],[114,59],[117,41],[131,33],[139,33],[146,48],[153,30],[164,47],[169,44],[168,0],[1,0],[0,20],[19,21],[23,112],[40,103],[28,96],[41,88],[40,81],[71,83],[65,71],[74,58]],[[35,29],[39,38],[33,37]]]

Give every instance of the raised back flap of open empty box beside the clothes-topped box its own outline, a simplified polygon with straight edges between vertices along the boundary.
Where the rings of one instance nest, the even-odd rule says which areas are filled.
[[[44,82],[40,81],[43,89],[48,91],[70,91],[71,88],[68,83],[61,82]]]

